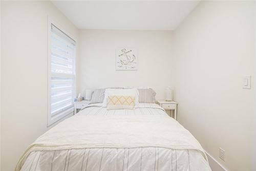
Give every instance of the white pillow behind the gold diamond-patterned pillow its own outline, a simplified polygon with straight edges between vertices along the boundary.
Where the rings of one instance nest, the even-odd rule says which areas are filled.
[[[102,107],[106,107],[106,105],[108,104],[109,96],[134,96],[135,106],[139,105],[138,89],[106,89],[104,93]]]

